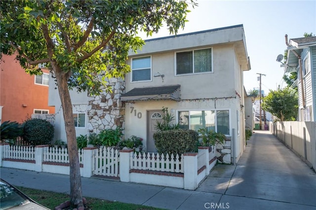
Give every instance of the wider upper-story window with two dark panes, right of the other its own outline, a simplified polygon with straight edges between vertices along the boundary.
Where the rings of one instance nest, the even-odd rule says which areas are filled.
[[[212,48],[177,52],[176,74],[212,72]]]

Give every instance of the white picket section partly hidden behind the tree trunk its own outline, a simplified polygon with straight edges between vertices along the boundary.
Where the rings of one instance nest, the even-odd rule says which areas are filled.
[[[78,150],[79,163],[83,164],[83,149]],[[45,147],[44,162],[69,163],[67,148]]]

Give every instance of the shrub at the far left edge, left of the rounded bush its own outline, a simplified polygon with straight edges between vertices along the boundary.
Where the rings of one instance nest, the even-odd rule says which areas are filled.
[[[23,135],[23,127],[18,122],[5,121],[0,126],[1,140],[16,140]]]

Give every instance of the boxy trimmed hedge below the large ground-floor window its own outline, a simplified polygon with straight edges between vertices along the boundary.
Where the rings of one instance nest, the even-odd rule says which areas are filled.
[[[158,153],[183,154],[197,151],[198,133],[194,130],[176,129],[154,134]]]

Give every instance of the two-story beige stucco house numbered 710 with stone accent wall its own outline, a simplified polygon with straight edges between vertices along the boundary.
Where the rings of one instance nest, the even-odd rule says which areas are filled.
[[[238,161],[245,147],[243,71],[250,70],[243,25],[149,39],[127,63],[132,70],[125,81],[110,80],[113,94],[72,93],[74,117],[82,122],[77,136],[121,126],[125,138],[141,137],[146,151],[154,152],[155,124],[168,107],[182,128],[207,127],[231,138],[225,151]],[[49,102],[58,111],[53,88]],[[58,113],[55,138],[65,140]]]

